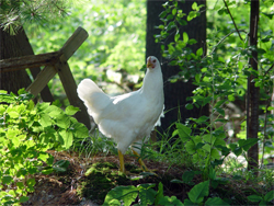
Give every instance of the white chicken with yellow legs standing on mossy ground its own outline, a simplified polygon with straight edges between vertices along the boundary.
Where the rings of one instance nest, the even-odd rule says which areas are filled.
[[[125,173],[124,153],[132,146],[142,170],[147,171],[138,147],[144,137],[149,138],[163,112],[163,80],[159,60],[153,56],[147,58],[147,72],[142,87],[137,91],[109,96],[92,80],[84,79],[77,92],[99,130],[116,141],[119,170]]]

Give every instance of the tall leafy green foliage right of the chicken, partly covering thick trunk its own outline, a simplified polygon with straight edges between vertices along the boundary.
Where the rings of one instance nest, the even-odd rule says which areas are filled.
[[[269,1],[262,3],[260,8],[261,11],[267,10],[267,3]],[[235,9],[236,2],[229,2],[228,8],[225,5],[219,8],[220,4],[222,4],[222,2],[215,3],[214,10],[209,10],[208,12],[216,12],[216,9],[219,9],[217,20],[224,22],[224,19],[230,18],[229,15],[224,16],[225,13],[228,13],[228,9]],[[201,116],[197,119],[191,117],[186,124],[178,123],[176,130],[172,136],[179,135],[180,140],[176,141],[181,141],[183,145],[182,149],[193,156],[194,164],[198,163],[198,165],[205,165],[204,171],[207,176],[209,168],[221,164],[224,157],[229,154],[230,150],[237,156],[240,156],[242,152],[247,152],[260,140],[244,138],[240,139],[237,144],[230,144],[228,147],[224,140],[227,137],[224,126],[230,119],[227,117],[228,115],[224,108],[227,104],[233,103],[236,99],[243,100],[243,95],[247,91],[247,79],[250,75],[258,77],[254,81],[256,82],[256,87],[260,87],[262,90],[262,100],[264,98],[265,100],[270,99],[273,82],[270,80],[271,76],[266,75],[265,71],[273,60],[273,56],[271,57],[269,54],[273,54],[274,48],[273,46],[269,47],[270,50],[266,52],[261,47],[262,44],[259,43],[259,48],[256,49],[259,58],[265,59],[265,61],[260,62],[261,70],[259,72],[254,71],[249,68],[247,62],[248,58],[251,57],[251,52],[255,48],[250,47],[248,41],[236,38],[239,37],[240,34],[230,36],[232,33],[229,33],[228,31],[235,26],[232,23],[228,25],[216,23],[214,26],[217,26],[217,28],[209,32],[209,37],[212,37],[210,41],[215,42],[208,42],[208,55],[205,56],[203,48],[199,48],[194,53],[187,48],[187,46],[195,44],[196,41],[190,39],[185,32],[181,34],[180,28],[186,25],[187,21],[198,16],[203,5],[197,5],[197,3],[194,2],[192,4],[193,11],[189,14],[183,13],[183,11],[180,10],[178,1],[167,1],[163,7],[165,10],[159,15],[162,24],[157,26],[160,30],[160,34],[155,35],[155,37],[157,42],[162,44],[162,56],[171,60],[171,66],[179,66],[181,69],[178,76],[172,77],[170,81],[189,81],[192,79],[196,89],[193,91],[194,95],[187,98],[190,103],[187,103],[185,107],[192,110],[194,106],[203,107],[209,104],[212,111],[209,117]],[[249,8],[249,4],[244,7]],[[209,3],[209,8],[212,8],[212,3]],[[233,15],[236,20],[243,15],[243,10],[239,7],[235,10],[239,11],[239,14]],[[247,12],[247,10],[244,10],[244,12]],[[249,18],[247,15],[243,16]],[[185,21],[185,18],[187,21]],[[270,18],[263,18],[262,21],[267,22],[269,24],[272,22]],[[210,26],[213,25],[209,24],[209,27]],[[228,30],[228,27],[230,28]],[[244,30],[249,28],[249,25],[244,24],[243,27]],[[261,27],[265,30],[270,28],[269,25],[265,27],[263,24],[262,26],[260,25],[261,35],[263,35]],[[226,35],[226,32],[229,34]],[[173,34],[174,42],[171,42],[165,46],[165,41]],[[246,38],[248,36],[246,36]],[[269,38],[265,39],[259,37],[259,42],[269,42],[270,39],[273,39],[273,35],[269,35],[267,37]],[[233,44],[232,46],[230,44],[227,48],[225,41],[237,44]],[[227,60],[225,60],[224,57],[226,57]],[[266,72],[269,71],[270,70]],[[220,126],[221,124],[224,126]],[[176,142],[176,145],[180,144]]]

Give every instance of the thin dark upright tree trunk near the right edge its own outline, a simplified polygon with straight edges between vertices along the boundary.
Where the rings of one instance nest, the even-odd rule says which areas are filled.
[[[258,42],[258,23],[259,23],[259,0],[251,1],[251,12],[250,12],[250,46],[256,48]],[[250,66],[253,70],[258,71],[258,53],[255,49],[252,50],[252,58],[249,60]],[[258,138],[259,131],[259,101],[260,101],[260,89],[255,87],[255,82],[252,81],[254,78],[251,75],[248,79],[248,113],[247,113],[247,138]],[[259,148],[258,144],[251,147],[248,151],[248,169],[258,169],[259,162]],[[258,171],[254,171],[258,174]]]

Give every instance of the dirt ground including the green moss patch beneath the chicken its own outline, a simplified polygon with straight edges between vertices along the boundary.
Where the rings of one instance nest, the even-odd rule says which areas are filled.
[[[117,156],[95,156],[90,159],[81,158],[77,153],[48,151],[55,157],[55,161],[67,160],[69,167],[66,172],[35,175],[35,192],[28,194],[30,199],[22,204],[26,205],[82,205],[96,206],[102,205],[104,197],[112,188],[117,185],[138,185],[145,183],[155,183],[157,186],[163,184],[163,193],[167,196],[176,196],[181,202],[187,198],[187,193],[193,185],[183,183],[172,183],[171,180],[182,180],[182,174],[189,170],[183,167],[165,164],[163,162],[153,162],[144,160],[149,170],[156,175],[139,178],[141,170],[135,157],[126,154],[125,165],[129,171],[127,175],[121,175],[118,172]],[[91,171],[88,172],[87,171]],[[229,176],[225,176],[229,178]],[[193,180],[194,184],[202,182],[201,175]],[[210,188],[210,197],[220,197],[222,199],[233,199],[230,205],[247,205],[247,196],[259,191],[261,187],[248,181],[229,181],[229,183],[219,185],[217,188]],[[253,191],[253,192],[252,192]]]

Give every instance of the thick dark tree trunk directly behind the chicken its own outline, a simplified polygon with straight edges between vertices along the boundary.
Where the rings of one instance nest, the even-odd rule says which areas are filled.
[[[192,11],[192,4],[194,1],[185,1],[185,3],[181,3],[181,8],[183,12],[189,14]],[[205,0],[196,1],[197,4],[206,4]],[[164,64],[167,60],[161,57],[161,48],[160,44],[155,42],[155,34],[159,33],[159,30],[155,28],[155,26],[162,24],[160,21],[159,14],[163,11],[162,4],[164,1],[147,1],[147,37],[146,37],[146,56],[156,56],[163,65],[162,65],[162,73],[163,73],[163,90],[164,90],[164,106],[167,113],[164,114],[164,118],[161,119],[161,128],[163,131],[170,127],[170,125],[176,121],[182,123],[185,122],[189,117],[197,118],[201,115],[209,115],[208,105],[203,108],[186,110],[185,104],[186,98],[192,96],[192,91],[196,89],[195,85],[192,84],[192,81],[182,82],[178,81],[175,83],[171,83],[168,79],[174,75],[178,75],[180,71],[179,67],[172,67]],[[206,52],[206,13],[203,12],[201,16],[193,19],[187,22],[189,24],[181,28],[181,33],[186,32],[189,34],[190,39],[195,38],[197,44],[190,46],[190,48],[195,53],[198,48],[203,47],[204,54]],[[169,37],[170,41],[173,41],[173,37]],[[170,42],[167,41],[167,45]],[[172,133],[173,129],[170,131]]]

